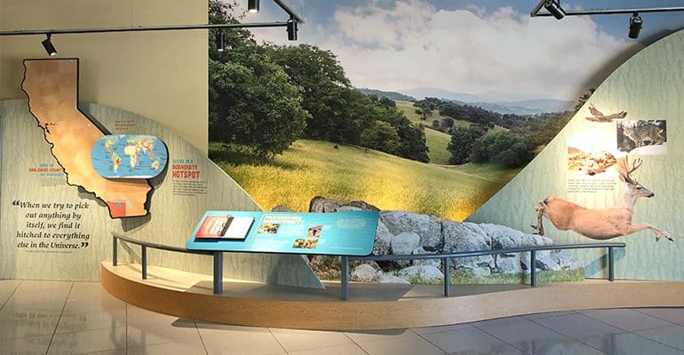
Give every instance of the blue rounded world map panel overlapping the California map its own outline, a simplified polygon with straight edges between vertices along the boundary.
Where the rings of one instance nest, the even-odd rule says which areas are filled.
[[[91,150],[92,167],[106,178],[152,178],[159,175],[169,152],[163,141],[147,135],[107,135]]]

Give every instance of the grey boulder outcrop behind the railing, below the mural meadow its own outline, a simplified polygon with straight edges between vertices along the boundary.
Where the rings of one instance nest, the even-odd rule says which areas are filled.
[[[314,197],[309,206],[311,212],[378,211],[378,208],[363,201],[344,203],[321,196]],[[546,245],[553,245],[553,241],[505,225],[457,222],[404,211],[380,211],[373,254],[440,254]],[[393,265],[398,268],[383,271],[360,264],[354,268],[352,280],[403,283],[410,280],[434,282],[444,278],[441,259],[396,261]],[[472,272],[474,276],[529,272],[529,253],[451,258],[449,267]],[[563,250],[549,250],[537,252],[535,267],[548,271],[579,270],[582,264]]]

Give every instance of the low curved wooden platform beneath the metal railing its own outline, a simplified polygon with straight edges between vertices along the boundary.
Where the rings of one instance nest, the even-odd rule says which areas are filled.
[[[684,282],[585,280],[529,285],[352,283],[340,300],[340,283],[326,289],[292,288],[224,279],[212,293],[211,276],[139,264],[101,264],[102,286],[151,311],[251,327],[386,329],[431,327],[538,312],[630,307],[682,307]]]

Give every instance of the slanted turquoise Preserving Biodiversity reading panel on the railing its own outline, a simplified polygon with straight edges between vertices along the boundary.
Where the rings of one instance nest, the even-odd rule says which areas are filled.
[[[367,256],[378,212],[207,211],[186,243],[189,250]]]

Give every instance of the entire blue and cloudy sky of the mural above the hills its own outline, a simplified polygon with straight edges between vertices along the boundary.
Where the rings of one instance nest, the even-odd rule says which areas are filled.
[[[273,2],[243,22],[287,20]],[[285,0],[306,20],[298,43],[333,51],[356,87],[439,88],[502,100],[569,99],[597,86],[684,12],[645,13],[638,41],[630,15],[531,18],[532,1]],[[562,1],[568,9],[684,6],[684,1]],[[286,41],[283,28],[258,40]]]

